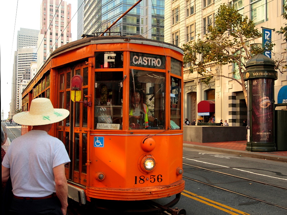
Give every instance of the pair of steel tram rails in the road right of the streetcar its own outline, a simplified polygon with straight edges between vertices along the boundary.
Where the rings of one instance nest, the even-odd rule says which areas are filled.
[[[194,167],[194,168],[198,168],[198,169],[203,169],[203,170],[206,170],[206,171],[210,171],[210,172],[214,172],[214,173],[219,173],[219,174],[223,174],[223,175],[227,175],[227,176],[231,176],[231,177],[236,177],[236,178],[239,178],[239,179],[244,179],[244,180],[248,180],[248,181],[252,181],[252,182],[255,182],[255,183],[260,183],[260,184],[264,184],[264,185],[269,185],[269,186],[272,186],[272,187],[277,187],[277,188],[281,188],[281,189],[286,189],[286,187],[281,187],[281,186],[278,186],[278,185],[273,185],[273,184],[268,184],[268,183],[264,183],[264,182],[261,182],[261,181],[256,181],[256,180],[252,180],[252,179],[248,179],[248,178],[245,178],[245,177],[240,177],[240,176],[236,176],[236,175],[232,175],[232,174],[228,174],[228,173],[223,173],[223,172],[220,172],[220,171],[215,171],[215,170],[211,170],[211,169],[206,169],[206,168],[203,168],[203,167],[198,167],[198,166],[194,166],[194,165],[190,165],[190,164],[185,164],[183,163],[183,165],[186,165],[186,166],[189,166],[189,167]],[[256,201],[259,201],[259,202],[263,202],[265,204],[269,204],[269,205],[272,205],[272,206],[276,206],[276,207],[279,207],[279,208],[283,208],[283,209],[286,209],[286,207],[283,207],[283,206],[280,206],[280,205],[277,205],[277,204],[273,204],[271,202],[267,202],[267,201],[264,201],[264,200],[260,200],[258,198],[254,198],[252,196],[248,196],[248,195],[245,195],[243,193],[238,193],[236,191],[232,191],[232,190],[229,190],[229,189],[225,189],[223,187],[218,187],[216,185],[213,185],[213,184],[210,184],[210,183],[206,183],[206,182],[203,182],[203,181],[199,181],[199,180],[196,180],[196,179],[192,179],[190,177],[186,177],[186,176],[183,176],[183,178],[185,179],[188,179],[188,180],[191,180],[191,181],[195,181],[195,182],[198,182],[198,183],[201,183],[201,184],[205,184],[205,185],[208,185],[208,186],[211,186],[211,187],[214,187],[214,188],[218,188],[218,189],[221,189],[221,190],[224,190],[224,191],[228,191],[230,193],[234,193],[234,194],[237,194],[237,195],[240,195],[240,196],[244,196],[246,198],[249,198],[249,199],[252,199],[252,200],[256,200]]]

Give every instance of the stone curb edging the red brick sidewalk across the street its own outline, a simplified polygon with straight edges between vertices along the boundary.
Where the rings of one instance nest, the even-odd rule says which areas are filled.
[[[285,156],[266,155],[266,154],[256,153],[256,152],[243,152],[243,151],[232,150],[232,149],[216,148],[216,147],[210,147],[210,146],[199,146],[199,145],[193,145],[193,144],[187,144],[187,143],[184,143],[183,146],[187,148],[195,148],[195,149],[211,151],[211,152],[222,152],[222,153],[228,153],[232,155],[240,155],[244,157],[253,157],[253,158],[266,159],[266,160],[287,162],[287,157]]]

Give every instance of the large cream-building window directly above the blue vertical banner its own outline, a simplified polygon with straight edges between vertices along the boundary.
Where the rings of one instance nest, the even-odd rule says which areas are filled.
[[[251,20],[255,25],[268,21],[267,0],[251,0]]]

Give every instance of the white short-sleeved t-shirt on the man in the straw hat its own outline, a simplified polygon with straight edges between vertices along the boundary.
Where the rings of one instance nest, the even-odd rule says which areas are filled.
[[[61,140],[31,130],[11,142],[2,165],[10,168],[15,196],[44,197],[56,191],[53,168],[70,161]]]

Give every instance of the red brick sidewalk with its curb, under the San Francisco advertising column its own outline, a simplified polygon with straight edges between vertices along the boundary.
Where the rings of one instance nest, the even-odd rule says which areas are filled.
[[[287,151],[276,152],[250,152],[245,149],[247,140],[231,142],[189,142],[183,141],[183,146],[200,150],[229,153],[245,157],[254,157],[274,161],[287,162]]]

